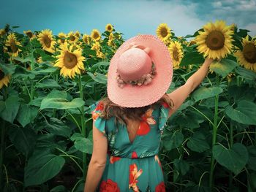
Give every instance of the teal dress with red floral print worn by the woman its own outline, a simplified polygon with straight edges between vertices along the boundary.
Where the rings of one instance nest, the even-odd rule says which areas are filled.
[[[94,126],[108,139],[107,164],[97,191],[165,191],[157,154],[170,110],[167,104],[146,111],[133,142],[129,141],[126,126],[115,117],[99,117],[104,109],[101,101],[90,107]]]

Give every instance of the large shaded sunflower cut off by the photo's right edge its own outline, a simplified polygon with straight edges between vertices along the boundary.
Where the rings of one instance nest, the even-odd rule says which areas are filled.
[[[241,66],[256,72],[256,39],[249,41],[249,36],[247,35],[243,38],[243,50],[238,50],[234,55],[236,55]]]

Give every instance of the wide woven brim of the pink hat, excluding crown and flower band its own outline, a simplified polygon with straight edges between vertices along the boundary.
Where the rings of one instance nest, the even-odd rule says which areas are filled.
[[[135,42],[150,48],[150,57],[154,62],[157,74],[148,85],[124,85],[118,87],[116,69],[118,58],[129,45]],[[170,87],[173,78],[173,63],[166,45],[154,35],[143,34],[124,42],[110,61],[108,69],[108,98],[121,107],[144,107],[161,99]]]

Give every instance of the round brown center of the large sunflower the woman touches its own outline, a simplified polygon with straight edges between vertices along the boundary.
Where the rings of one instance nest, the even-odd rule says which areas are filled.
[[[211,50],[220,50],[224,47],[225,37],[220,31],[211,31],[206,37],[206,45]]]

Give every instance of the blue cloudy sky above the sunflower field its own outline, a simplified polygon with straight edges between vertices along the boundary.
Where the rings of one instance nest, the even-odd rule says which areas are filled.
[[[16,31],[50,28],[53,34],[105,31],[111,23],[128,39],[137,34],[156,34],[159,23],[167,23],[176,36],[193,34],[209,21],[236,23],[256,35],[256,0],[178,1],[178,0],[9,0],[0,7],[0,28],[6,23],[20,26]]]

